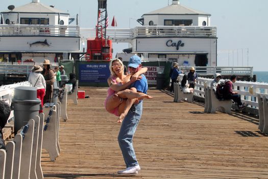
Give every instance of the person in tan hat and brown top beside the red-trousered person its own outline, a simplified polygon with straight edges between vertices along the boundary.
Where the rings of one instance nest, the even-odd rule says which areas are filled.
[[[53,83],[55,82],[54,71],[50,68],[50,60],[45,59],[43,64],[42,75],[45,79],[45,96],[44,103],[51,103],[53,96]]]

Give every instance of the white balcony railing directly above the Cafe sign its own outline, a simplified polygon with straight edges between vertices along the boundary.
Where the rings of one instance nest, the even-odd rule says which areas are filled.
[[[134,28],[134,37],[216,37],[216,27],[141,26]]]

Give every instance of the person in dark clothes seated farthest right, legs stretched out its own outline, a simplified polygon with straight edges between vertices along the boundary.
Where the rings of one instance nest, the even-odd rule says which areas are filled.
[[[248,104],[242,103],[240,95],[238,95],[238,92],[233,92],[233,83],[236,81],[236,76],[232,75],[230,80],[225,80],[225,86],[224,86],[224,93],[223,93],[223,98],[228,100],[232,99],[236,104],[239,109],[243,109]]]

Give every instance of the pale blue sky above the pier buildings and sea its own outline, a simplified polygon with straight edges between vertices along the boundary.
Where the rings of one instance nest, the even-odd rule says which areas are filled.
[[[31,3],[31,0],[7,0],[1,2],[0,11],[9,5],[15,7]],[[71,17],[80,16],[80,27],[94,28],[98,15],[98,0],[40,0],[45,5],[66,11]],[[135,19],[172,3],[171,0],[107,0],[111,24],[115,16],[117,28],[139,26]],[[217,64],[221,66],[250,65],[254,71],[268,71],[268,25],[266,0],[180,0],[191,9],[211,14],[211,26],[217,27]],[[113,44],[114,52],[128,48],[127,44]],[[249,50],[249,52],[248,52]]]

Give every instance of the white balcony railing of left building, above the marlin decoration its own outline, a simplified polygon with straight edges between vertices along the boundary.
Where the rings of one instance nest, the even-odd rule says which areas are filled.
[[[0,25],[0,36],[80,36],[79,26]]]

